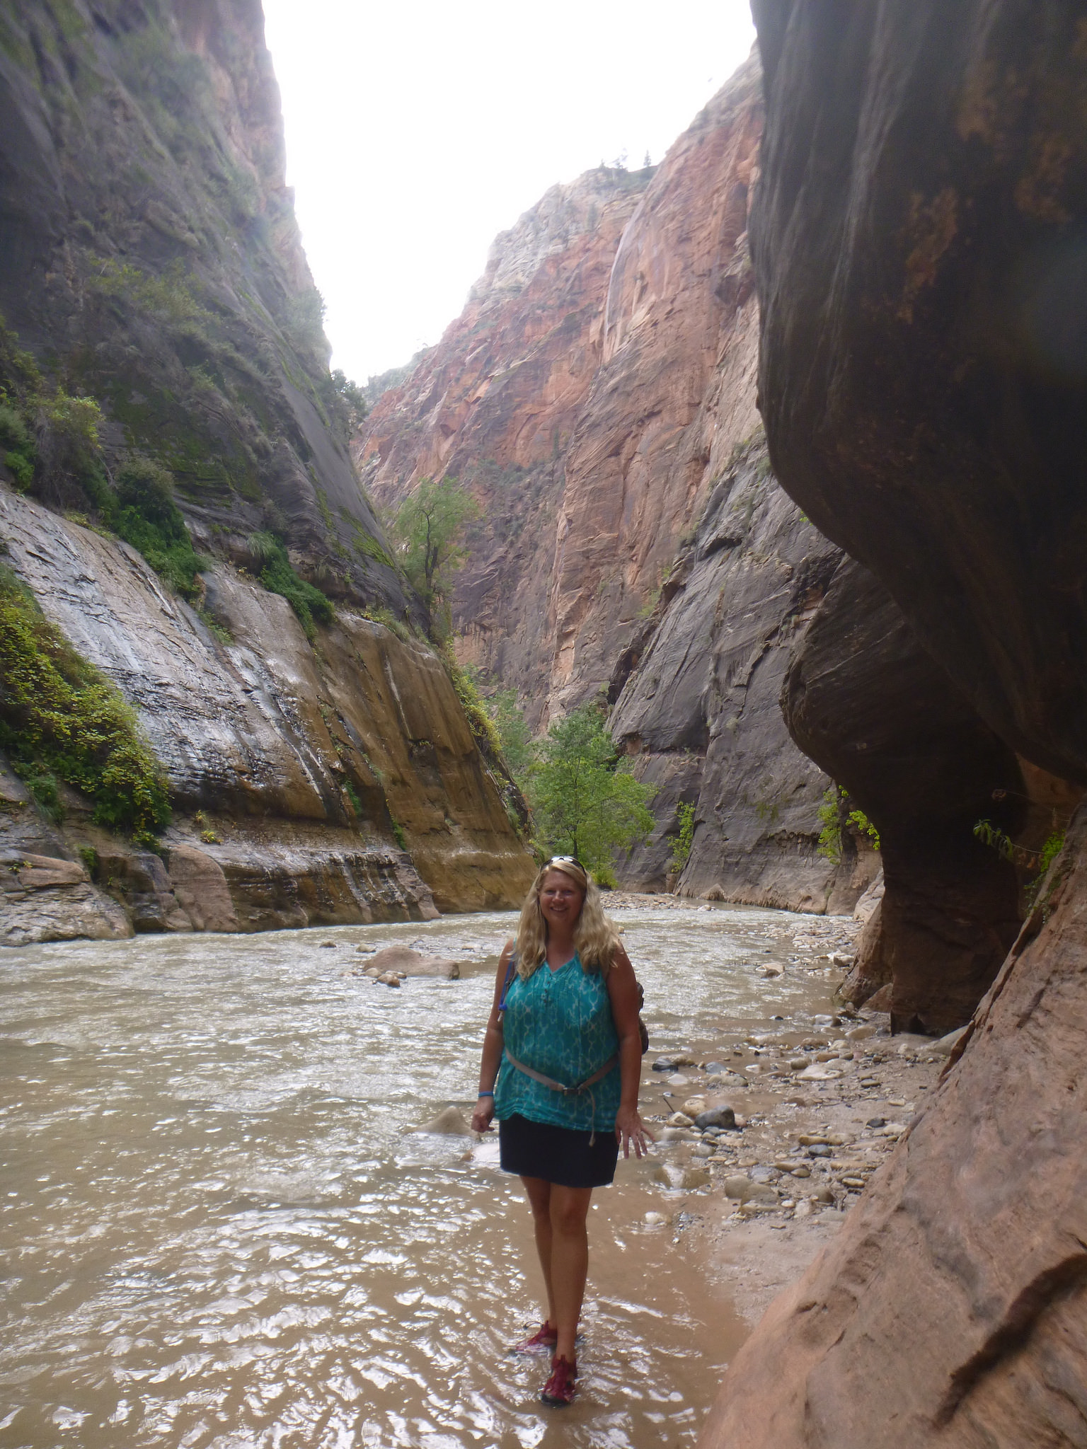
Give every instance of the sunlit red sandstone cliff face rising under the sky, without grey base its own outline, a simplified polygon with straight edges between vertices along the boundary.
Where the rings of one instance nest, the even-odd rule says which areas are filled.
[[[461,317],[357,440],[383,503],[442,472],[472,487],[486,523],[454,622],[533,720],[607,684],[758,423],[758,91],[752,59],[655,174],[554,187],[496,241]]]

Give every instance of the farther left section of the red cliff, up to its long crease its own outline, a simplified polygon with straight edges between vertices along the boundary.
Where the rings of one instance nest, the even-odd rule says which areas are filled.
[[[419,478],[471,485],[483,523],[454,606],[477,662],[546,711],[564,459],[603,354],[616,248],[652,171],[555,185],[494,242],[441,343],[367,419],[355,454],[381,503]]]

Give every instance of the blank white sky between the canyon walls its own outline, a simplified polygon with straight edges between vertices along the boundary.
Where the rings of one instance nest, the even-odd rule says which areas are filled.
[[[555,181],[657,162],[751,49],[748,0],[264,0],[333,367],[436,342]]]

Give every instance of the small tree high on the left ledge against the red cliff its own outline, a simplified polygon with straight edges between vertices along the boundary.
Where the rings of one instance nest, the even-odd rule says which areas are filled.
[[[464,530],[480,516],[472,496],[455,478],[422,478],[397,509],[391,533],[409,582],[426,609],[428,630],[441,619],[449,632],[449,593],[467,558]]]

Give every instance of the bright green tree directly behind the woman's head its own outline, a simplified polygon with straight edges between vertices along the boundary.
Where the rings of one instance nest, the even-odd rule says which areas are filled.
[[[655,793],[620,761],[600,706],[584,704],[539,746],[529,785],[539,846],[545,855],[575,855],[601,884],[615,884],[612,858],[648,839]]]

